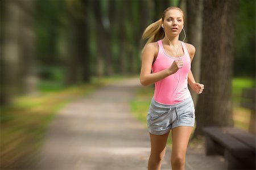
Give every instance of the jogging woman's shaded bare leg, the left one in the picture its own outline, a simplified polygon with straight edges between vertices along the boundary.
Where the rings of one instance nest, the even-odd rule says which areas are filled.
[[[150,133],[151,152],[148,159],[148,170],[160,170],[161,162],[166,152],[166,143],[169,132],[163,135]]]

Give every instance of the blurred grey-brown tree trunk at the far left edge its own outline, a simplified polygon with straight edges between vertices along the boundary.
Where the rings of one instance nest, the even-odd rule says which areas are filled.
[[[16,2],[1,1],[1,105],[11,104],[15,91],[19,60],[19,12]]]

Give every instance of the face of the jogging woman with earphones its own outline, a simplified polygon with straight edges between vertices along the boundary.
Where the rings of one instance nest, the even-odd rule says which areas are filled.
[[[171,36],[180,34],[183,27],[183,14],[179,10],[169,10],[163,21],[164,31]]]

